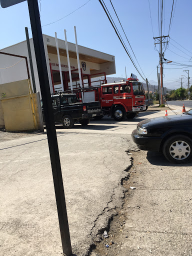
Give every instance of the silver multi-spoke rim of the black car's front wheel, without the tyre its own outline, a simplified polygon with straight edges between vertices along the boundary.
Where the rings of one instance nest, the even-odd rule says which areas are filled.
[[[176,140],[169,147],[170,155],[177,160],[183,160],[190,154],[190,146],[183,140]]]

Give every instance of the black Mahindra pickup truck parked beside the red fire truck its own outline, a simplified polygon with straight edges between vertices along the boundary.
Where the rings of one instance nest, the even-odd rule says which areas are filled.
[[[54,122],[62,123],[66,129],[72,128],[75,122],[87,125],[93,116],[102,115],[100,102],[79,102],[75,93],[59,92],[51,95]],[[43,106],[42,116],[44,122]]]

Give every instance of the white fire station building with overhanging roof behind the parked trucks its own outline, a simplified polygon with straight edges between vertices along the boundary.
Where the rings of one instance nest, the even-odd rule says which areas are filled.
[[[61,73],[62,73],[62,78],[60,78],[61,76],[59,72],[59,61],[58,61],[55,37],[45,35],[45,34],[43,34],[42,36],[43,36],[46,65],[47,65],[51,93],[53,93],[54,90],[57,90],[57,91],[61,90],[61,86],[60,86],[61,79],[63,81],[64,90],[70,89],[65,41],[61,39],[57,40]],[[30,48],[31,48],[31,59],[32,59],[33,70],[34,70],[35,87],[36,87],[36,91],[40,91],[32,38],[29,39],[29,42],[30,42]],[[69,52],[72,87],[74,89],[79,87],[79,74],[78,74],[78,66],[77,66],[76,47],[75,47],[75,43],[68,42],[67,45],[68,45],[68,52]],[[26,56],[28,60],[28,66],[29,66],[29,57],[28,57],[26,40],[19,42],[17,44],[14,44],[12,46],[3,48],[0,51],[9,53],[9,54]],[[87,47],[83,47],[80,45],[78,45],[78,52],[79,52],[79,62],[80,62],[80,70],[81,70],[80,75],[82,79],[82,86],[90,86],[90,81],[91,81],[91,78],[93,77],[99,77],[97,79],[99,80],[100,77],[105,77],[106,75],[115,73],[115,61],[114,61],[113,55],[103,53]],[[31,77],[30,66],[29,66],[29,73]],[[21,57],[16,57],[16,56],[0,54],[0,84],[12,82],[12,81],[19,81],[23,79],[27,79],[27,68],[26,68],[25,59]],[[94,78],[94,80],[96,79]],[[102,82],[105,82],[104,78]]]

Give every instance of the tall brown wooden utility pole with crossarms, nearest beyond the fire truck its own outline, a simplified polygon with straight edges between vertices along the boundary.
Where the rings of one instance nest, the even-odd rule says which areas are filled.
[[[163,95],[163,67],[162,67],[162,59],[163,59],[163,52],[162,52],[162,43],[168,43],[168,41],[165,41],[165,38],[169,37],[169,35],[161,35],[158,37],[153,37],[154,41],[157,39],[158,42],[155,42],[155,44],[160,43],[160,53],[159,53],[159,62],[160,62],[160,100],[161,104],[164,104],[164,95]]]

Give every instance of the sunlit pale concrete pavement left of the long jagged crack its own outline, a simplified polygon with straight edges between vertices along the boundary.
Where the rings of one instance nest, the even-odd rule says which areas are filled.
[[[111,134],[58,133],[73,253],[85,255],[122,204],[130,165],[127,140]],[[0,255],[62,252],[45,135],[0,143]]]

